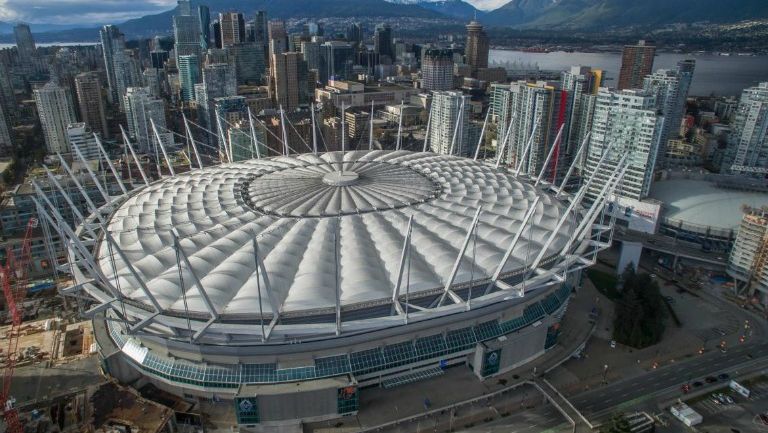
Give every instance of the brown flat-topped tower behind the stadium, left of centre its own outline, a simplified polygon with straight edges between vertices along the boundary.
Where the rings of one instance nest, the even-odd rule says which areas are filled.
[[[307,63],[301,53],[272,55],[272,99],[275,105],[293,111],[309,103]]]

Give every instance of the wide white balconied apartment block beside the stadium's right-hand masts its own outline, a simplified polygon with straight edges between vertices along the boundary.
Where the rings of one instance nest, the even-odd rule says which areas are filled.
[[[609,174],[625,155],[628,169],[616,194],[632,200],[647,197],[664,125],[656,104],[656,96],[643,90],[600,89],[586,161],[587,176],[594,174],[596,180],[588,197],[597,197]],[[598,170],[599,161],[606,152],[604,165]]]

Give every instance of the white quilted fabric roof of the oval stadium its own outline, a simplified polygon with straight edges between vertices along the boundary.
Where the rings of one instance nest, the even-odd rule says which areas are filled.
[[[329,173],[338,171],[351,183],[334,183]],[[490,277],[537,195],[542,199],[533,226],[505,266],[509,272],[533,260],[566,204],[492,166],[431,153],[303,154],[178,174],[135,193],[113,214],[108,229],[164,309],[184,311],[183,291],[186,308],[203,315],[208,310],[191,270],[177,264],[171,229],[178,231],[195,275],[222,315],[258,312],[255,237],[281,313],[301,314],[334,308],[337,287],[345,308],[389,302],[410,216],[410,273],[401,295],[445,284],[478,206],[478,236],[467,247],[455,283]],[[562,249],[578,219],[569,218],[548,255]],[[99,264],[114,279],[106,242]],[[148,304],[117,255],[114,264],[122,292]],[[263,276],[259,283],[262,308],[269,313]]]

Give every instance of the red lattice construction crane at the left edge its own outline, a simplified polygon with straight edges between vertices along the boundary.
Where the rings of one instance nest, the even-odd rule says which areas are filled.
[[[21,334],[21,322],[24,319],[22,303],[27,297],[32,231],[36,227],[37,219],[30,218],[24,232],[24,240],[21,243],[21,255],[17,261],[14,257],[13,249],[8,248],[8,257],[2,274],[3,294],[5,295],[6,304],[8,304],[8,315],[11,317],[11,327],[7,331],[8,349],[5,353],[3,388],[2,394],[0,394],[0,409],[3,411],[6,432],[8,433],[23,433],[24,431],[10,392],[13,370],[19,359],[19,336]]]

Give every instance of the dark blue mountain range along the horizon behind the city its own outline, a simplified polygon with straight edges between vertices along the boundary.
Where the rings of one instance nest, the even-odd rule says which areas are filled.
[[[238,10],[250,16],[266,10],[270,18],[398,17],[453,19],[457,24],[475,17],[489,27],[549,30],[608,28],[657,28],[672,23],[708,21],[729,23],[768,18],[768,0],[511,0],[498,9],[483,12],[464,0],[217,0],[202,3],[211,13]],[[197,3],[197,2],[194,2]],[[175,10],[148,15],[118,24],[129,38],[167,34]],[[33,25],[41,40],[94,41],[95,27],[64,28]],[[7,40],[10,25],[0,23],[0,39]]]

